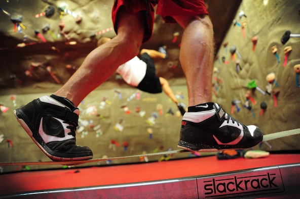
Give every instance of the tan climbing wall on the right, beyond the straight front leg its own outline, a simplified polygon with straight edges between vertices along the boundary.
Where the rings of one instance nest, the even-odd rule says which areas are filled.
[[[244,0],[214,61],[213,101],[265,134],[300,127],[299,12],[298,1]],[[287,137],[261,148],[299,150],[298,143]]]

